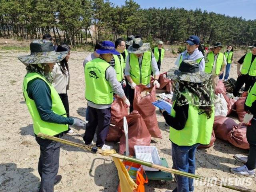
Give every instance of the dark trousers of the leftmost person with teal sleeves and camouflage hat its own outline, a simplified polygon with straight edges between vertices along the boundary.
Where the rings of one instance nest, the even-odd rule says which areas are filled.
[[[40,192],[53,192],[54,180],[59,169],[60,143],[36,136],[40,145],[38,173],[41,177]]]

